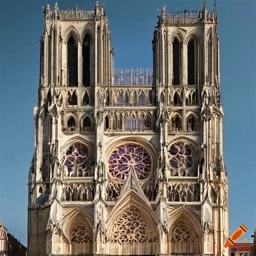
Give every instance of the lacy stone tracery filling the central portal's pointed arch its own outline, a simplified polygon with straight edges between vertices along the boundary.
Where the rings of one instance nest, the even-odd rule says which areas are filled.
[[[119,214],[110,233],[112,244],[126,244],[127,242],[154,242],[157,235],[146,225],[142,214],[135,207],[129,207]]]

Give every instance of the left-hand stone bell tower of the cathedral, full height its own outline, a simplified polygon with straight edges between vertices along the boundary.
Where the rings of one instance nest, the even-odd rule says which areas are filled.
[[[95,10],[59,10],[57,3],[53,9],[46,5],[40,43],[35,152],[29,174],[29,255],[65,251],[58,242],[68,238],[57,242],[52,231],[62,234],[58,221],[64,212],[59,202],[75,200],[71,191],[82,187],[79,200],[92,204],[97,166],[96,91],[98,86],[111,85],[113,77],[108,20],[98,2]],[[63,155],[63,147],[69,153]],[[63,165],[67,160],[69,165]],[[71,182],[75,178],[80,178],[76,188]],[[83,221],[92,223],[92,216],[86,216]],[[92,253],[92,226],[88,235],[86,252]]]

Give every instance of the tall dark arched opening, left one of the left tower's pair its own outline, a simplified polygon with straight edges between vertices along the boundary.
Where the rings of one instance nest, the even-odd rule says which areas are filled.
[[[68,86],[78,85],[77,43],[73,36],[68,41]]]

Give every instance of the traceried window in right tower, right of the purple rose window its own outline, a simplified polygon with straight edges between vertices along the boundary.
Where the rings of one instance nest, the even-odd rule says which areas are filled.
[[[191,147],[185,142],[172,144],[168,151],[172,176],[195,176],[195,163]]]

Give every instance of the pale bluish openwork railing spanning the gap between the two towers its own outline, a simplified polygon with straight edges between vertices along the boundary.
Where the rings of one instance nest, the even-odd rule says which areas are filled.
[[[152,85],[153,70],[150,68],[119,68],[114,70],[114,85]]]

